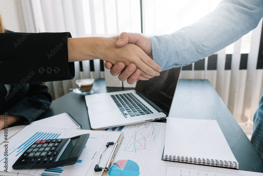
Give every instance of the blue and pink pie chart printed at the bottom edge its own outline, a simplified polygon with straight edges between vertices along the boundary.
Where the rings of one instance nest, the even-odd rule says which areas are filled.
[[[119,160],[110,167],[109,176],[139,176],[140,168],[137,163],[132,160]]]

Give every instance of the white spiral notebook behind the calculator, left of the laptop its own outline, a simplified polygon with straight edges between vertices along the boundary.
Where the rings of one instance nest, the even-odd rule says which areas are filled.
[[[30,123],[30,125],[54,128],[81,129],[81,125],[68,112],[34,121]]]

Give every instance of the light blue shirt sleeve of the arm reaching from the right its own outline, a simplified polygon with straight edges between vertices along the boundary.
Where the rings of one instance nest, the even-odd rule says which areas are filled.
[[[262,16],[263,0],[222,0],[192,25],[151,36],[153,60],[167,70],[204,59],[256,28]]]

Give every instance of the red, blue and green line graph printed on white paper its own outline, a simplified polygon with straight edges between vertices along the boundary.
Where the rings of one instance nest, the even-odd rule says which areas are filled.
[[[137,153],[139,150],[147,149],[149,147],[147,140],[151,140],[154,132],[154,125],[139,124],[124,151]]]

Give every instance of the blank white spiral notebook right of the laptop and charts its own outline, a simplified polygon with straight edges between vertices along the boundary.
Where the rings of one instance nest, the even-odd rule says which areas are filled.
[[[216,120],[167,117],[163,159],[238,169]]]

